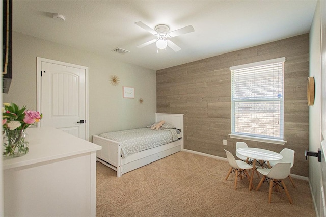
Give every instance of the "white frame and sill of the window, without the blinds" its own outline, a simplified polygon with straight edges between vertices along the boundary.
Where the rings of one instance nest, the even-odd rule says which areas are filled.
[[[250,134],[250,133],[238,133],[235,132],[235,113],[234,113],[234,102],[239,100],[233,100],[233,72],[234,70],[244,69],[244,68],[250,68],[250,67],[259,67],[267,64],[275,64],[275,63],[281,63],[283,62],[283,87],[282,87],[282,100],[275,100],[271,99],[271,101],[280,101],[280,137],[271,137],[268,135],[258,135],[258,134]],[[284,145],[286,141],[284,141],[284,62],[285,57],[282,58],[276,58],[266,61],[259,61],[249,64],[243,64],[238,66],[232,66],[230,67],[231,71],[231,133],[229,134],[231,138],[235,139],[243,139],[243,140],[252,140],[252,141],[258,141],[258,142],[265,142],[265,143],[274,143],[274,144],[281,144]],[[240,101],[248,101],[252,102],[254,100],[240,100]],[[259,100],[258,100],[259,101]],[[261,101],[261,100],[260,100]]]

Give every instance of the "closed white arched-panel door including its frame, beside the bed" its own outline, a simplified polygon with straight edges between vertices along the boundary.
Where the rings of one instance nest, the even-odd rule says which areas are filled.
[[[40,127],[52,126],[76,137],[88,137],[88,67],[37,58]]]

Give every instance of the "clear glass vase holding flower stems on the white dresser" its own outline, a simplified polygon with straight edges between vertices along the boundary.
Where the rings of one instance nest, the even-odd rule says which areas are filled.
[[[20,157],[29,152],[28,134],[24,130],[3,131],[3,157]]]

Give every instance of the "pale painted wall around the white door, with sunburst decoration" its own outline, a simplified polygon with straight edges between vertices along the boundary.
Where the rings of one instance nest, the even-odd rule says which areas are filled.
[[[92,134],[105,131],[144,127],[154,122],[156,112],[154,70],[17,32],[13,32],[12,40],[13,79],[9,93],[3,94],[4,102],[14,102],[36,110],[36,57],[42,57],[89,67],[87,121],[90,137]],[[111,75],[119,77],[118,86],[110,84]],[[122,86],[134,87],[135,98],[123,98]],[[139,98],[144,99],[143,104],[138,102]]]

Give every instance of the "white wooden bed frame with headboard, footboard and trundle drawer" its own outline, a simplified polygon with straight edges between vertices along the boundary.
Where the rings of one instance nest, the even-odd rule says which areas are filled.
[[[143,167],[151,162],[183,150],[183,114],[155,113],[155,122],[165,120],[181,130],[182,138],[155,148],[147,149],[125,158],[121,157],[121,146],[118,142],[98,135],[93,135],[93,143],[102,147],[96,153],[97,160],[117,171],[117,176]]]

